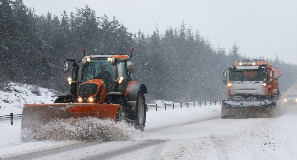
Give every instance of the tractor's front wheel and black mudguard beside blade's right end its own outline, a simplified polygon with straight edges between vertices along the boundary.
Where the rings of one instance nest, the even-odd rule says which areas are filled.
[[[119,104],[120,107],[118,108],[118,113],[116,117],[116,122],[124,121],[126,119],[125,116],[125,101],[122,97],[119,96],[111,96],[107,98],[106,104]]]

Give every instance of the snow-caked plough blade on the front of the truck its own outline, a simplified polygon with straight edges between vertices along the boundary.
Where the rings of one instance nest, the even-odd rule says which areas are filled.
[[[275,100],[226,100],[222,101],[221,118],[273,117],[275,107]]]

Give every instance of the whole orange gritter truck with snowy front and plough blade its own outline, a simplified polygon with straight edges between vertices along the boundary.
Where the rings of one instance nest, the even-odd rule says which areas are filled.
[[[229,80],[227,81],[227,69]],[[235,61],[225,69],[223,82],[228,99],[222,101],[222,118],[270,117],[280,98],[280,71],[265,60]]]

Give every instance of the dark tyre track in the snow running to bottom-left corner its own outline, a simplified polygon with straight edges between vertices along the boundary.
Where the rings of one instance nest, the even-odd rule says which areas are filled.
[[[1,160],[9,160],[9,159],[23,160],[23,159],[42,158],[42,157],[53,155],[53,154],[69,152],[71,150],[89,147],[92,145],[103,144],[103,143],[107,143],[107,142],[109,142],[109,141],[87,141],[87,142],[75,143],[75,144],[64,145],[64,146],[60,146],[60,147],[56,147],[56,148],[52,148],[52,149],[30,152],[28,154],[20,154],[20,155],[16,155],[16,156],[12,156],[12,157],[2,158]]]

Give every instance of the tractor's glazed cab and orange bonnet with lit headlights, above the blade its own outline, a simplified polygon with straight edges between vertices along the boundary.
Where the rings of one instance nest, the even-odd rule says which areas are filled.
[[[82,60],[65,60],[65,72],[69,66],[66,61],[81,63],[83,66],[80,72],[79,65],[73,63],[72,76],[68,78],[74,102],[78,100],[85,103],[103,103],[108,93],[125,93],[131,80],[130,73],[133,71],[133,62],[130,59],[131,56],[116,54],[85,56]]]

